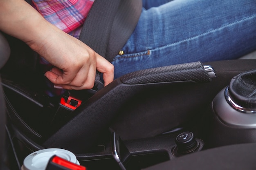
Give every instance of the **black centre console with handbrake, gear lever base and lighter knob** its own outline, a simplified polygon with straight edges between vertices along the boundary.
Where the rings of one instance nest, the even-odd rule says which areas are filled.
[[[8,128],[20,164],[32,151],[65,148],[89,170],[140,170],[220,146],[254,143],[256,71],[248,69],[256,62],[242,61],[236,68],[230,67],[233,62],[238,63],[206,63],[216,71],[212,80],[213,70],[202,65],[204,76],[185,81],[177,79],[179,73],[163,82],[157,77],[170,76],[161,70],[153,80],[152,73],[127,75],[82,101],[49,99],[3,77]]]

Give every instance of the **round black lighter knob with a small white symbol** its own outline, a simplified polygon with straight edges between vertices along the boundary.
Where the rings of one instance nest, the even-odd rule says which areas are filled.
[[[175,143],[180,154],[193,152],[199,145],[192,132],[181,133],[176,137]]]

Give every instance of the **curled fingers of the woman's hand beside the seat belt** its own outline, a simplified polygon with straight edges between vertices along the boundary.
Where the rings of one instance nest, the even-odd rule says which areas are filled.
[[[94,86],[96,69],[103,73],[104,85],[108,85],[114,79],[114,66],[105,58],[95,53],[96,61],[90,65],[74,66],[74,68],[52,68],[45,76],[55,84],[56,88],[72,90],[91,89]],[[94,64],[95,63],[95,64]]]

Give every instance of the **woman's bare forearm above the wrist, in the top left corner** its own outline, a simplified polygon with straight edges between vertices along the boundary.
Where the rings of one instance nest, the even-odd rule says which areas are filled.
[[[51,29],[56,28],[24,0],[0,0],[0,30],[32,45],[34,50],[50,36]]]

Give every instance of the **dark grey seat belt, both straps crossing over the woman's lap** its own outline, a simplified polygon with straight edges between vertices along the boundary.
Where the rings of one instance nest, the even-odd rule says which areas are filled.
[[[141,0],[95,0],[79,40],[111,62],[135,29],[141,9]],[[94,88],[100,77],[97,71]]]

